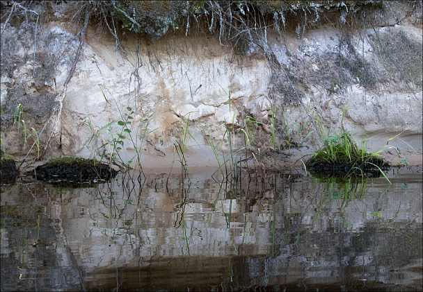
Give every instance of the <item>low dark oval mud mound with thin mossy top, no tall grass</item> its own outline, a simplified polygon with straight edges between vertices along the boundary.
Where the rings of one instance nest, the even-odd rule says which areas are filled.
[[[81,184],[108,181],[114,178],[117,172],[97,160],[58,157],[26,174],[45,182]]]

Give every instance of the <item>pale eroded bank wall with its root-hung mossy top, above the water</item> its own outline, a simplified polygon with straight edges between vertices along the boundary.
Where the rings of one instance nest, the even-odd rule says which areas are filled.
[[[349,107],[358,141],[421,160],[420,2],[158,2],[1,1],[3,150],[202,165],[310,148]]]

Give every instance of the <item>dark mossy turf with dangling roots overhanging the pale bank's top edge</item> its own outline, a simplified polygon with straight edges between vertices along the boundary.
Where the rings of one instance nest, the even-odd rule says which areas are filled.
[[[102,5],[104,2],[102,2]],[[383,1],[111,1],[108,4],[112,13],[123,26],[136,33],[147,33],[153,39],[162,37],[171,27],[174,30],[190,26],[205,25],[211,33],[225,33],[230,39],[239,33],[242,24],[264,28],[273,26],[279,31],[287,25],[287,17],[294,15],[295,22],[312,15],[317,21],[319,14],[328,11],[342,12],[342,22],[354,12],[367,6],[383,7]],[[299,14],[298,14],[299,13]],[[189,21],[192,17],[194,21]],[[234,34],[230,34],[231,30]]]

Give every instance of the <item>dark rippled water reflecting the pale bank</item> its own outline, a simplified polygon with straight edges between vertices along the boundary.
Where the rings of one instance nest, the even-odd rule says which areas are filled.
[[[1,291],[422,291],[422,173],[388,178],[2,187]]]

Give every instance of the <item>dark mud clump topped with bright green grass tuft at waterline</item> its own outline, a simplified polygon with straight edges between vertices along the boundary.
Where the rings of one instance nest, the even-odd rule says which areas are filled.
[[[351,135],[333,135],[305,164],[314,176],[377,178],[391,165],[381,155],[358,148]]]

